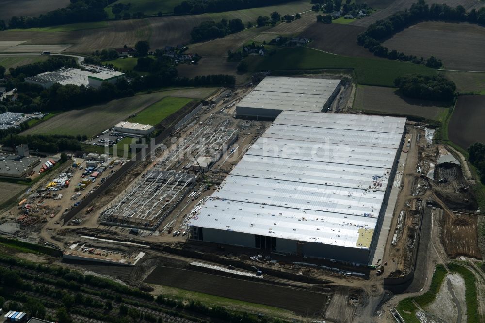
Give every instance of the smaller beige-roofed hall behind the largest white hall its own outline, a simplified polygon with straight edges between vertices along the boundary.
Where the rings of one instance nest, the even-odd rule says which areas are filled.
[[[236,104],[236,117],[274,120],[281,111],[326,111],[341,80],[267,76]]]

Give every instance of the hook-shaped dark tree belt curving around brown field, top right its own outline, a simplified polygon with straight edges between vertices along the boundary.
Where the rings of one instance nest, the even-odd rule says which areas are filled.
[[[440,68],[442,66],[441,61],[434,57],[430,57],[427,60],[419,60],[413,55],[405,55],[396,50],[391,51],[381,44],[381,41],[423,20],[468,21],[470,23],[485,24],[485,8],[472,9],[467,13],[461,5],[453,8],[446,4],[433,3],[431,6],[428,6],[424,0],[419,0],[409,10],[393,14],[384,20],[377,20],[371,24],[365,32],[357,36],[357,43],[376,56],[392,60],[412,61],[413,63]]]

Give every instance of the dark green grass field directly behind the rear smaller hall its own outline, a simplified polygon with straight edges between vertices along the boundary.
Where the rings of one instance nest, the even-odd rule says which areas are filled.
[[[347,57],[306,48],[283,48],[272,56],[248,61],[254,71],[299,69],[353,70],[359,84],[394,86],[394,80],[404,74],[432,75],[436,70],[424,65],[379,58]]]

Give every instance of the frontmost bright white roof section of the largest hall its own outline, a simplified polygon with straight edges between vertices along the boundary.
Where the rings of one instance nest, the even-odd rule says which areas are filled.
[[[189,226],[359,248],[358,229],[376,223],[371,217],[211,198]]]

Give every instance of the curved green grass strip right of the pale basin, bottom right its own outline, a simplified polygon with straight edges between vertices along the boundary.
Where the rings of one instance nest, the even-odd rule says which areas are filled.
[[[448,265],[450,271],[460,274],[465,280],[465,303],[467,303],[467,322],[480,323],[483,322],[478,312],[477,286],[476,277],[466,267],[457,263],[451,262]]]

